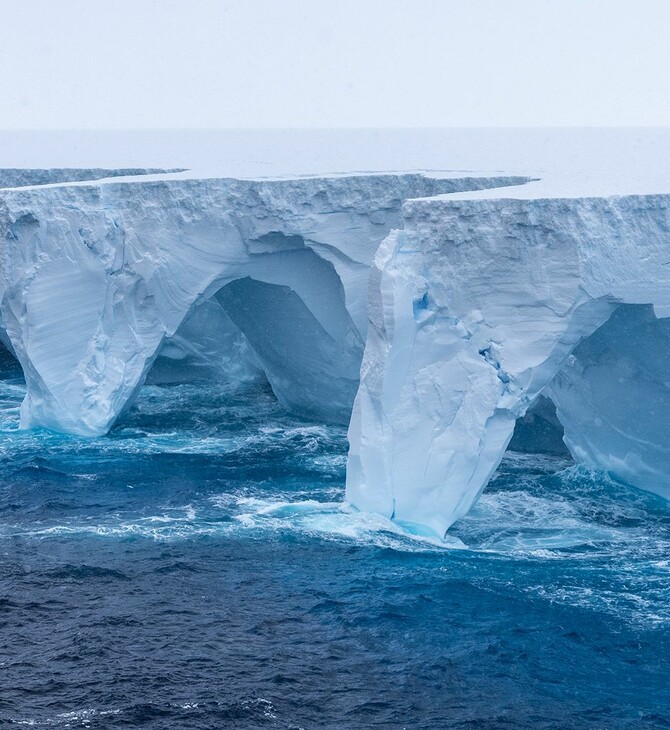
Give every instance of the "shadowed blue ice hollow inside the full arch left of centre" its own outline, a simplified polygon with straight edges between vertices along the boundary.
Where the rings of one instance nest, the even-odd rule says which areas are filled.
[[[363,338],[332,264],[301,237],[289,240],[295,248],[284,241],[283,250],[252,256],[246,276],[194,309],[162,345],[150,382],[245,381],[262,373],[288,410],[348,423]]]

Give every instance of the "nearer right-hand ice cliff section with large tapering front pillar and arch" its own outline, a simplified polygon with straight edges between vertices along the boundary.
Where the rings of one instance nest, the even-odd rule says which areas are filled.
[[[593,365],[602,338],[632,334],[640,318],[665,346],[667,199],[421,200],[407,202],[404,214],[404,229],[381,245],[371,275],[347,499],[444,533],[476,502],[517,418],[545,389],[578,461],[666,489],[663,430],[660,438],[635,428],[615,437],[631,428],[630,411],[608,403],[616,388],[633,386],[651,345],[618,371],[608,363],[594,375]],[[622,303],[647,306],[622,309],[587,340]],[[614,347],[610,361],[627,347]],[[640,412],[654,410],[659,368],[635,386]],[[596,385],[605,371],[624,381]],[[577,415],[589,404],[600,419],[590,426]]]

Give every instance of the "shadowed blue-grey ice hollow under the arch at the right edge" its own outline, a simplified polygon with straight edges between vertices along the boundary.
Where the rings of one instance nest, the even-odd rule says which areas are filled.
[[[617,306],[518,419],[509,448],[571,453],[670,499],[668,360],[670,319],[651,305]]]

